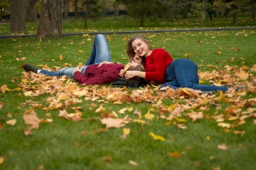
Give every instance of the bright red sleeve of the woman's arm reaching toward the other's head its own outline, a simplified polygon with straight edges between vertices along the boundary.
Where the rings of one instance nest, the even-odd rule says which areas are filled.
[[[146,71],[145,79],[164,82],[164,74],[166,70],[166,51],[159,51],[152,57],[154,62],[154,71]]]

